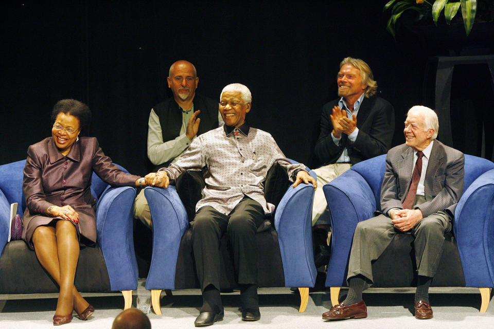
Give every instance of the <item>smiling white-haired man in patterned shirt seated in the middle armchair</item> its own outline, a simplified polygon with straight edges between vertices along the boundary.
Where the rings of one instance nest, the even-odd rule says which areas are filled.
[[[254,235],[274,205],[264,199],[263,181],[274,163],[288,171],[293,187],[316,181],[302,164],[292,165],[273,137],[250,127],[245,115],[251,110],[251,92],[234,83],[223,88],[219,111],[224,126],[198,136],[177,162],[162,168],[149,184],[168,187],[186,170],[201,171],[206,187],[196,206],[192,222],[192,245],[202,289],[203,305],[196,326],[211,325],[223,319],[220,298],[219,243],[226,233],[233,247],[242,320],[260,319],[257,299],[257,252]]]

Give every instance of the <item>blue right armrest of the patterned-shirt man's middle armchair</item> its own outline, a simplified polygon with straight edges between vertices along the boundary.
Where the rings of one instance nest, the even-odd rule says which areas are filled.
[[[315,284],[317,270],[311,233],[313,200],[312,185],[290,186],[276,209],[274,227],[278,232],[287,287],[313,287]]]

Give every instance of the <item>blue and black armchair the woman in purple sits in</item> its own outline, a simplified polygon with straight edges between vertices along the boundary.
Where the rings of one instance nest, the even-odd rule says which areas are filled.
[[[0,294],[58,293],[34,251],[22,240],[7,242],[10,204],[19,203],[21,216],[26,208],[22,191],[25,162],[0,166]],[[97,244],[81,250],[74,284],[83,293],[120,290],[124,308],[129,308],[132,290],[137,289],[131,216],[135,189],[112,188],[93,173],[91,191],[97,199]]]

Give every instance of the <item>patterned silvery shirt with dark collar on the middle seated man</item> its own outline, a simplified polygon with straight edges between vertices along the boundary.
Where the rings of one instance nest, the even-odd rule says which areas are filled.
[[[246,195],[269,214],[274,205],[264,199],[263,182],[276,162],[287,169],[291,181],[298,171],[305,170],[302,163],[292,165],[288,161],[269,133],[244,123],[235,129],[224,125],[198,136],[177,162],[160,170],[173,180],[186,170],[201,171],[206,167],[206,187],[196,211],[211,206],[227,215]]]

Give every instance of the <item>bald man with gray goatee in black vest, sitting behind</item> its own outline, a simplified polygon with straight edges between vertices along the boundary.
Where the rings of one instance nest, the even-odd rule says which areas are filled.
[[[192,63],[173,63],[167,81],[173,97],[154,106],[148,121],[148,157],[155,171],[175,162],[196,136],[223,124],[218,102],[196,94],[199,78]],[[134,217],[152,227],[144,190],[135,199]]]

